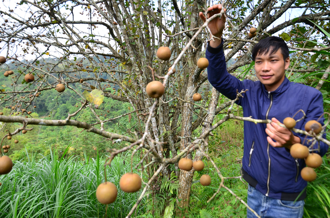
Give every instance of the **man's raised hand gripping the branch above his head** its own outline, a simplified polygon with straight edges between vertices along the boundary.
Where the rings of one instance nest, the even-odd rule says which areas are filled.
[[[221,4],[215,4],[207,9],[207,18],[219,14],[221,12],[222,5]],[[223,9],[226,12],[226,8]],[[206,17],[202,12],[199,12],[199,17],[203,20],[203,22],[206,21]],[[218,38],[221,39],[222,32],[225,29],[226,25],[226,17],[221,16],[221,19],[219,17],[215,17],[213,20],[211,20],[208,24],[208,27],[210,28],[212,34]],[[215,39],[215,42],[213,40],[210,41],[211,47],[218,47],[221,44],[221,40]]]

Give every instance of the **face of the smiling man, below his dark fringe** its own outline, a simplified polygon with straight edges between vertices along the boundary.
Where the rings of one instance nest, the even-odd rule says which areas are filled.
[[[271,49],[270,49],[271,50]],[[282,84],[284,80],[285,70],[290,65],[290,59],[284,62],[281,49],[270,55],[270,51],[266,54],[257,54],[255,58],[256,75],[264,84],[268,92],[273,92]]]

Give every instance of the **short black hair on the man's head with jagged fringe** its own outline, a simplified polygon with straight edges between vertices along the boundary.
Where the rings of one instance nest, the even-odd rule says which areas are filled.
[[[252,60],[255,61],[258,54],[263,55],[270,51],[270,55],[272,55],[279,49],[281,49],[280,51],[285,61],[285,59],[289,57],[289,48],[283,39],[277,36],[270,36],[262,39],[253,47]]]

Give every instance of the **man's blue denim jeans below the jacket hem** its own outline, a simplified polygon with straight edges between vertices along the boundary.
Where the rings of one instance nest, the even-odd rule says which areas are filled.
[[[247,205],[262,218],[302,218],[304,204],[304,200],[293,202],[266,197],[248,185]],[[256,218],[256,216],[247,209],[247,218]]]

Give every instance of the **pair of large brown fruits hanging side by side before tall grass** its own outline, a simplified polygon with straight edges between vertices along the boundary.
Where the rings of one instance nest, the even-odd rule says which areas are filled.
[[[119,180],[120,189],[127,193],[140,190],[141,184],[141,178],[136,173],[125,173]],[[117,187],[111,182],[101,183],[96,189],[96,198],[102,204],[115,202],[117,194]]]

